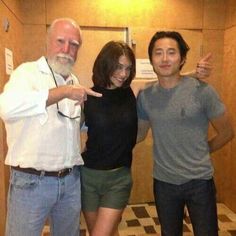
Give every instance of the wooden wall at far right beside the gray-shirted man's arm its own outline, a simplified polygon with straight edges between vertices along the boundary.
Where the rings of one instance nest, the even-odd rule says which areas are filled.
[[[236,131],[236,5],[234,0],[227,0],[226,24],[224,33],[224,61],[222,76],[223,97],[230,109]],[[236,139],[225,149],[225,155],[219,165],[222,173],[222,201],[236,211]],[[224,153],[223,153],[224,154]]]

